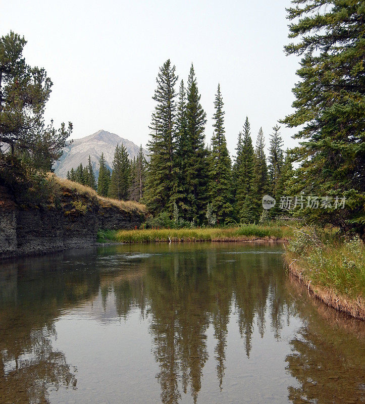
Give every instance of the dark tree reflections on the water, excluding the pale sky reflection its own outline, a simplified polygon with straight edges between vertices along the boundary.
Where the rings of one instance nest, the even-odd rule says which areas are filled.
[[[286,356],[287,370],[298,381],[288,386],[294,404],[360,399],[363,324],[303,293],[275,252],[275,247],[224,243],[119,246],[5,266],[0,402],[43,403],[49,389],[77,388],[75,370],[53,349],[55,320],[65,308],[99,298],[101,310],[112,301],[120,319],[127,321],[135,309],[148,319],[164,404],[178,403],[189,390],[198,401],[210,328],[216,383],[224,390],[232,319],[247,361],[257,338],[269,333],[280,341],[286,325],[300,319]]]

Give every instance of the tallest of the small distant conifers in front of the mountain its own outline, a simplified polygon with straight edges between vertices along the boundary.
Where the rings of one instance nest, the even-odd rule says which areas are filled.
[[[130,163],[127,149],[122,144],[115,149],[113,171],[108,196],[115,199],[128,199]]]

